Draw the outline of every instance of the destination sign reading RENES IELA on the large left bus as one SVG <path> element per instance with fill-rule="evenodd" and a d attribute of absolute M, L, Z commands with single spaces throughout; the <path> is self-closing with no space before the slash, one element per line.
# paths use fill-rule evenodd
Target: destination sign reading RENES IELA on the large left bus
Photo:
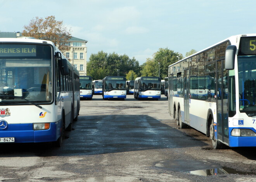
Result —
<path fill-rule="evenodd" d="M 26 44 L 0 44 L 0 56 L 36 56 L 36 46 Z"/>

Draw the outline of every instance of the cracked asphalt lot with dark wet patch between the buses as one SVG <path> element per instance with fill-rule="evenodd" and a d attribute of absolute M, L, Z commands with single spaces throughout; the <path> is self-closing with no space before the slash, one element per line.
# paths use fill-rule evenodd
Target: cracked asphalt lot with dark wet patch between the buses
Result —
<path fill-rule="evenodd" d="M 213 150 L 204 134 L 176 126 L 161 97 L 81 100 L 61 148 L 0 145 L 0 181 L 256 182 L 256 148 Z"/>

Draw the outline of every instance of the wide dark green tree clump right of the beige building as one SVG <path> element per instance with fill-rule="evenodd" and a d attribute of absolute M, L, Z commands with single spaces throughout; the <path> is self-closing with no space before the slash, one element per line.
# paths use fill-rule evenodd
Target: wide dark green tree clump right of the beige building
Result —
<path fill-rule="evenodd" d="M 102 73 L 99 70 L 102 70 Z M 126 76 L 130 70 L 133 70 L 137 74 L 140 71 L 140 66 L 134 57 L 130 59 L 126 54 L 107 54 L 103 51 L 99 51 L 97 54 L 91 54 L 87 63 L 87 73 L 94 80 L 99 80 L 106 76 L 117 76 L 117 70 L 119 70 L 119 76 Z M 100 74 L 97 74 L 97 72 Z"/>

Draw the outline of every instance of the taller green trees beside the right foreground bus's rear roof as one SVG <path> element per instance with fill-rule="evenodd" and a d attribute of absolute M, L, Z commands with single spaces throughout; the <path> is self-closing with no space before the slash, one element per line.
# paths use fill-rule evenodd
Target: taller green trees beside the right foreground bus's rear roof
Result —
<path fill-rule="evenodd" d="M 168 66 L 178 61 L 178 57 L 181 60 L 182 54 L 175 53 L 173 50 L 168 48 L 160 48 L 156 53 L 153 54 L 153 59 L 148 58 L 147 61 L 142 65 L 141 74 L 144 77 L 158 77 L 163 79 L 168 76 Z M 160 71 L 159 71 L 160 70 Z"/>

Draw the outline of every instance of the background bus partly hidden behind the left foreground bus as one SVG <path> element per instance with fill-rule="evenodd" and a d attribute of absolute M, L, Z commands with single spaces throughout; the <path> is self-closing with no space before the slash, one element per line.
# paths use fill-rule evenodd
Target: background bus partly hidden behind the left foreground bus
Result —
<path fill-rule="evenodd" d="M 92 99 L 92 77 L 80 76 L 80 98 Z"/>

